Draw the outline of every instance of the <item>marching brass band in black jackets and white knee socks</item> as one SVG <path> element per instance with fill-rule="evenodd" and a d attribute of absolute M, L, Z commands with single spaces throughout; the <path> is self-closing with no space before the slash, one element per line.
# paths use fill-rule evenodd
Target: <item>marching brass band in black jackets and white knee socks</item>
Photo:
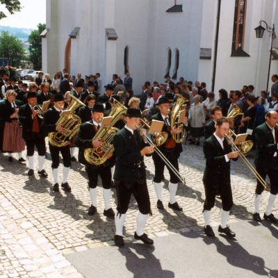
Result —
<path fill-rule="evenodd" d="M 26 84 L 21 84 L 26 88 Z M 23 86 L 24 85 L 24 86 Z M 45 138 L 49 137 L 49 152 L 51 154 L 51 168 L 54 178 L 54 192 L 59 191 L 58 166 L 59 155 L 63 157 L 63 181 L 61 188 L 69 193 L 71 187 L 67 181 L 71 163 L 70 147 L 79 148 L 78 161 L 85 165 L 88 175 L 88 190 L 91 205 L 88 215 L 97 211 L 97 184 L 101 177 L 104 197 L 104 215 L 115 218 L 115 245 L 124 245 L 123 227 L 126 212 L 128 211 L 131 194 L 138 203 L 137 228 L 134 238 L 143 243 L 152 245 L 154 241 L 144 233 L 148 215 L 152 215 L 149 192 L 146 181 L 144 156 L 152 156 L 154 161 L 154 189 L 156 192 L 158 210 L 163 210 L 163 179 L 164 168 L 170 174 L 168 207 L 175 211 L 183 211 L 176 200 L 179 181 L 183 177 L 179 173 L 179 156 L 183 152 L 181 146 L 186 131 L 190 130 L 187 114 L 182 114 L 184 104 L 188 99 L 181 95 L 166 94 L 156 101 L 152 114 L 141 114 L 138 108 L 139 99 L 132 97 L 129 100 L 130 108 L 124 107 L 124 95 L 113 95 L 114 87 L 106 85 L 104 95 L 95 91 L 95 84 L 88 81 L 87 90 L 83 91 L 83 83 L 76 84 L 76 90 L 66 92 L 49 92 L 49 83 L 42 82 L 40 92 L 38 85 L 31 83 L 28 91 L 6 90 L 6 99 L 0 103 L 0 145 L 2 152 L 8 152 L 8 161 L 13 161 L 12 154 L 17 152 L 19 162 L 24 162 L 22 152 L 27 149 L 28 176 L 33 176 L 34 150 L 38 150 L 38 174 L 48 177 L 44 170 L 46 155 Z M 19 99 L 17 99 L 19 95 Z M 168 95 L 168 97 L 167 97 Z M 47 111 L 42 106 L 48 101 Z M 84 103 L 83 103 L 84 101 Z M 234 110 L 236 111 L 236 105 Z M 144 110 L 144 109 L 142 109 Z M 187 113 L 187 112 L 185 112 Z M 111 117 L 109 124 L 103 125 L 106 117 Z M 185 115 L 185 116 L 181 116 Z M 230 115 L 230 114 L 229 114 Z M 211 122 L 204 127 L 204 156 L 206 167 L 204 170 L 204 234 L 213 238 L 215 236 L 210 224 L 211 208 L 215 203 L 215 195 L 219 194 L 222 200 L 222 220 L 218 227 L 220 233 L 228 237 L 236 234 L 227 226 L 229 212 L 233 206 L 230 160 L 237 160 L 243 156 L 241 149 L 233 149 L 234 139 L 228 135 L 233 127 L 234 117 L 222 117 L 220 106 L 211 108 Z M 238 115 L 234 115 L 238 116 Z M 265 123 L 253 131 L 256 139 L 256 173 L 265 182 L 270 178 L 270 197 L 263 218 L 271 222 L 278 219 L 271 213 L 272 206 L 278 193 L 278 113 L 270 111 L 265 115 Z M 148 122 L 148 123 L 147 123 Z M 153 122 L 160 122 L 162 129 L 155 132 L 152 142 L 146 131 Z M 178 124 L 178 125 L 177 125 Z M 191 134 L 194 136 L 194 134 Z M 179 136 L 179 140 L 177 139 Z M 232 133 L 232 136 L 236 136 Z M 195 138 L 195 137 L 193 137 Z M 227 140 L 226 140 L 227 139 Z M 228 140 L 229 139 L 229 140 Z M 187 140 L 187 139 L 186 139 Z M 194 140 L 194 139 L 193 139 Z M 115 165 L 115 172 L 111 168 Z M 117 209 L 111 208 L 111 186 L 115 181 L 117 192 Z M 257 183 L 254 197 L 254 215 L 256 221 L 261 221 L 259 203 L 264 187 Z"/>

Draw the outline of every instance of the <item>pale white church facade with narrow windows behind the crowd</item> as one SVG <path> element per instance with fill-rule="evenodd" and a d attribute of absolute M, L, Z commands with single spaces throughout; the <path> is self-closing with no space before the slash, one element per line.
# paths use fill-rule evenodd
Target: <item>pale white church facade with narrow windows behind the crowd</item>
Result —
<path fill-rule="evenodd" d="M 261 20 L 278 26 L 277 0 L 47 0 L 42 70 L 99 72 L 104 85 L 128 70 L 135 95 L 166 74 L 214 92 L 252 84 L 259 95 L 271 46 L 266 30 L 256 38 Z M 270 77 L 278 72 L 277 38 L 272 47 Z"/>

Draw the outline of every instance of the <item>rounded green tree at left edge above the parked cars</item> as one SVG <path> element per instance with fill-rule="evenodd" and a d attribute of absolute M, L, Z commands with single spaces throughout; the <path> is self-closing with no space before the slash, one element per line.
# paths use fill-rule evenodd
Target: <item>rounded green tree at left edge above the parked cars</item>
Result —
<path fill-rule="evenodd" d="M 0 56 L 8 58 L 8 62 L 13 67 L 19 67 L 24 58 L 24 48 L 22 42 L 7 31 L 0 35 Z"/>

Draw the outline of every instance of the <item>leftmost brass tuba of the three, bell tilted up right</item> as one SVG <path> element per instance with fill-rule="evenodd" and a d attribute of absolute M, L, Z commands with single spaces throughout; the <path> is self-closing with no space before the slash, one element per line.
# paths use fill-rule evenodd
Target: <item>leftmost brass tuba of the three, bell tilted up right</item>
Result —
<path fill-rule="evenodd" d="M 81 125 L 81 118 L 74 115 L 74 111 L 80 106 L 85 106 L 82 101 L 72 95 L 67 110 L 71 112 L 65 116 L 60 116 L 56 122 L 56 126 L 61 125 L 64 129 L 67 129 L 64 133 L 58 131 L 49 133 L 49 143 L 54 147 L 64 147 L 68 145 L 74 134 L 79 130 Z"/>

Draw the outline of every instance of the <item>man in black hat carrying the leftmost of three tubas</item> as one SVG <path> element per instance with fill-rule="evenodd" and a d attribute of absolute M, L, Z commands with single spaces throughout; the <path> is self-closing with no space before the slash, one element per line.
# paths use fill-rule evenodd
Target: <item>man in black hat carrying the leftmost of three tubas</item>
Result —
<path fill-rule="evenodd" d="M 60 117 L 60 113 L 63 111 L 64 106 L 64 96 L 62 94 L 54 95 L 54 106 L 50 109 L 48 109 L 44 113 L 44 118 L 42 120 L 41 129 L 46 131 L 47 133 L 56 132 L 59 133 L 65 133 L 66 129 L 58 124 L 56 125 L 56 122 L 58 121 Z M 63 145 L 62 147 L 51 145 L 49 142 L 49 151 L 51 154 L 52 159 L 52 173 L 54 178 L 54 186 L 53 190 L 54 192 L 59 191 L 59 184 L 58 184 L 58 166 L 59 166 L 59 153 L 61 153 L 63 157 L 63 183 L 62 188 L 70 192 L 72 188 L 70 188 L 69 184 L 67 183 L 67 176 L 70 171 L 70 142 L 67 145 Z"/>

